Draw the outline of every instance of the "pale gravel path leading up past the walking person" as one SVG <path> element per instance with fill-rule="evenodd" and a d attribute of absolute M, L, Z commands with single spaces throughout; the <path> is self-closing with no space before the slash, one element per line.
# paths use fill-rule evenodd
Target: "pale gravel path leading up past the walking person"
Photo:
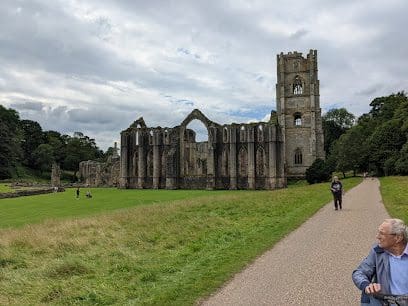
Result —
<path fill-rule="evenodd" d="M 202 305 L 360 305 L 351 273 L 388 217 L 379 181 L 366 179 L 343 210 L 327 204 Z"/>

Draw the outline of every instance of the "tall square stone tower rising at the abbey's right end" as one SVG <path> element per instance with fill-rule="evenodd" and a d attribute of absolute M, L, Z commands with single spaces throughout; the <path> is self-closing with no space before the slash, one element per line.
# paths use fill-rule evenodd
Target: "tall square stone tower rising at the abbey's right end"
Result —
<path fill-rule="evenodd" d="M 324 159 L 317 51 L 277 55 L 276 106 L 285 143 L 287 177 L 304 177 L 316 158 Z"/>

